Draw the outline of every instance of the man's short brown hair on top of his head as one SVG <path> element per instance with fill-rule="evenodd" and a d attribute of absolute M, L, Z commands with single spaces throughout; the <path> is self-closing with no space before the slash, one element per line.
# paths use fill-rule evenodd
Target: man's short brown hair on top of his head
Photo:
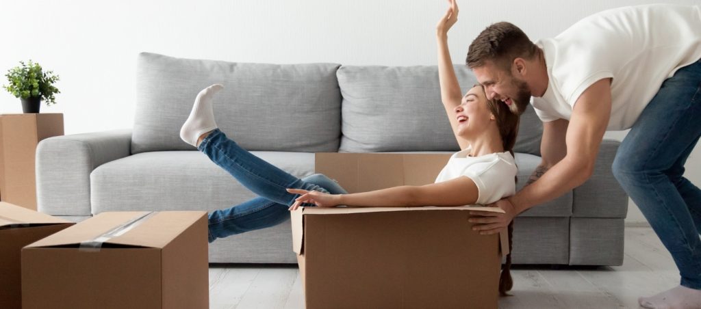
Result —
<path fill-rule="evenodd" d="M 497 67 L 510 71 L 514 59 L 531 59 L 537 50 L 536 44 L 519 27 L 510 22 L 497 22 L 486 27 L 472 41 L 465 62 L 473 69 L 491 61 Z"/>

